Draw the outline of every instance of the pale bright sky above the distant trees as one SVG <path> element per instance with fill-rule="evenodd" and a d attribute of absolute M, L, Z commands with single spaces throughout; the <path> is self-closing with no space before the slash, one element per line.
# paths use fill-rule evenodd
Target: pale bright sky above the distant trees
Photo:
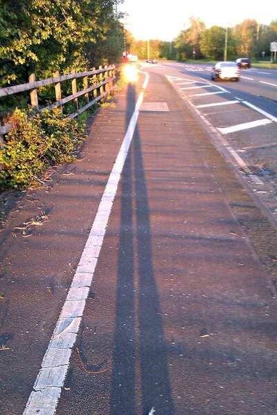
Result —
<path fill-rule="evenodd" d="M 277 19 L 272 0 L 229 0 L 226 6 L 208 0 L 124 0 L 118 11 L 128 14 L 123 23 L 136 40 L 171 41 L 190 26 L 191 16 L 199 17 L 207 28 L 231 27 L 244 19 L 268 25 Z"/>

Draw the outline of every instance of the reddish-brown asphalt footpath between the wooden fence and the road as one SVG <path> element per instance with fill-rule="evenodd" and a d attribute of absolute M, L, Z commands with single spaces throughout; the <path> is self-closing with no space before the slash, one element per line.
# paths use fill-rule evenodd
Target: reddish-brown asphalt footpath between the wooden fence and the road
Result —
<path fill-rule="evenodd" d="M 91 117 L 73 163 L 1 194 L 0 414 L 277 413 L 275 290 L 253 243 L 270 225 L 166 77 L 145 79 Z M 95 269 L 78 274 L 126 136 Z M 35 387 L 57 407 L 28 406 L 86 273 L 65 378 Z"/>

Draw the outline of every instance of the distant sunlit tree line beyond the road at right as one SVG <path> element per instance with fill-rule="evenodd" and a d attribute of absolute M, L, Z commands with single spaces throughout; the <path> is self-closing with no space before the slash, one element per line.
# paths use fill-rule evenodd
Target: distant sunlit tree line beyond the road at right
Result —
<path fill-rule="evenodd" d="M 181 30 L 172 42 L 160 40 L 133 41 L 132 50 L 141 59 L 211 59 L 229 60 L 250 57 L 253 60 L 271 59 L 270 44 L 277 41 L 277 19 L 262 25 L 254 19 L 245 19 L 241 24 L 224 28 L 206 28 L 204 21 L 190 17 L 189 26 Z"/>

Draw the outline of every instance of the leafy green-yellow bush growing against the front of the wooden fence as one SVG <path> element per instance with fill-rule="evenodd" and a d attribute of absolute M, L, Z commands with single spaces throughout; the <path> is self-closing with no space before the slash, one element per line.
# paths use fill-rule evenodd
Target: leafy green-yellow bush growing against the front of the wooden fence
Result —
<path fill-rule="evenodd" d="M 66 118 L 60 108 L 26 113 L 16 109 L 9 122 L 14 128 L 0 150 L 0 189 L 28 188 L 39 183 L 47 167 L 69 163 L 85 138 L 84 126 Z"/>

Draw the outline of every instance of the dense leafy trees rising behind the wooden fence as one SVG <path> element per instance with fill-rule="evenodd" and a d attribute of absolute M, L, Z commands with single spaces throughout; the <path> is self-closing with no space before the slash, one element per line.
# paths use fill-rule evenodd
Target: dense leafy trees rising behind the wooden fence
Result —
<path fill-rule="evenodd" d="M 121 0 L 0 0 L 0 87 L 116 63 Z"/>

